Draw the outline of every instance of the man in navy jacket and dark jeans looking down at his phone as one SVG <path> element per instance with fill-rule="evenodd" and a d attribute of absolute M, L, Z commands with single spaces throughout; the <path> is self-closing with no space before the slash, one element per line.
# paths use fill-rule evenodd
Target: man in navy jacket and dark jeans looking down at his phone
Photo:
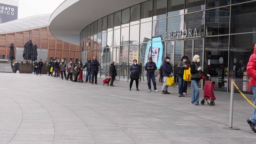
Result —
<path fill-rule="evenodd" d="M 148 80 L 148 92 L 151 91 L 151 79 L 154 86 L 154 91 L 158 92 L 156 89 L 156 78 L 155 70 L 157 69 L 156 63 L 152 61 L 152 57 L 148 58 L 148 62 L 145 65 L 145 70 L 147 71 L 147 80 Z"/>

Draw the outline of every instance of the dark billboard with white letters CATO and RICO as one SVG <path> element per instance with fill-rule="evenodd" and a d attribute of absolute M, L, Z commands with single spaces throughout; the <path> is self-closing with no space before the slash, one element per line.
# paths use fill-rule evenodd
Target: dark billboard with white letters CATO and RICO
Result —
<path fill-rule="evenodd" d="M 16 20 L 18 18 L 18 7 L 0 3 L 0 23 Z"/>

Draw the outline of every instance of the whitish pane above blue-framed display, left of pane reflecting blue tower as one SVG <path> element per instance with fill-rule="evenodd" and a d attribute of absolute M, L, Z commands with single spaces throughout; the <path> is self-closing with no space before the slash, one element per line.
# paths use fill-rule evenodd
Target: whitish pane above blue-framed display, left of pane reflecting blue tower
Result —
<path fill-rule="evenodd" d="M 148 42 L 151 40 L 152 22 L 140 24 L 140 42 Z"/>

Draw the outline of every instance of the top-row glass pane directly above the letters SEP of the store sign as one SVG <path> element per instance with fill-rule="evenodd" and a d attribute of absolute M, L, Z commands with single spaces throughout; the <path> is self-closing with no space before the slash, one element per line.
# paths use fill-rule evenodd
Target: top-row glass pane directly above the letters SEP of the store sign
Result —
<path fill-rule="evenodd" d="M 167 16 L 184 14 L 185 0 L 168 0 Z"/>

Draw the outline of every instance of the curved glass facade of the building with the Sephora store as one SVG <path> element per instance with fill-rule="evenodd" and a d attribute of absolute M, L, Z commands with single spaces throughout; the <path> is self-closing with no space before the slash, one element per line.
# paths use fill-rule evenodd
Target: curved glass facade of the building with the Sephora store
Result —
<path fill-rule="evenodd" d="M 252 94 L 246 65 L 256 42 L 255 15 L 256 1 L 250 0 L 148 0 L 85 26 L 80 53 L 99 59 L 102 78 L 115 61 L 116 79 L 123 81 L 130 79 L 133 59 L 146 81 L 148 57 L 160 69 L 170 56 L 175 69 L 183 55 L 192 61 L 198 54 L 203 71 L 216 82 L 215 91 L 229 92 L 235 78 L 244 93 Z M 199 87 L 203 89 L 203 81 Z"/>

